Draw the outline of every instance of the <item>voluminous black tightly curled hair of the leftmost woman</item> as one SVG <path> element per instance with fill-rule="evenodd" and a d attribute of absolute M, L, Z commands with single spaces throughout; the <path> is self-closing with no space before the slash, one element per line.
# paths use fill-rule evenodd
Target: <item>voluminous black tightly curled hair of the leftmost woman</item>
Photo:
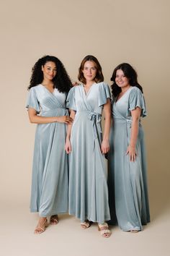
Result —
<path fill-rule="evenodd" d="M 57 88 L 61 93 L 68 93 L 68 91 L 72 87 L 71 79 L 68 76 L 66 69 L 63 66 L 63 63 L 55 56 L 49 55 L 43 56 L 42 58 L 38 59 L 34 67 L 32 67 L 32 76 L 30 78 L 30 85 L 28 87 L 28 90 L 36 85 L 39 85 L 42 82 L 42 66 L 44 66 L 45 63 L 47 63 L 48 61 L 54 62 L 57 67 L 57 74 L 53 78 L 53 87 Z"/>

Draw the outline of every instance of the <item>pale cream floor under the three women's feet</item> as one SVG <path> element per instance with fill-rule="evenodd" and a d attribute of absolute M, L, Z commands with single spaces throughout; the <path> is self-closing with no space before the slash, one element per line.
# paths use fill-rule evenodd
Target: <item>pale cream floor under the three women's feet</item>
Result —
<path fill-rule="evenodd" d="M 1 256 L 169 256 L 170 207 L 165 202 L 151 205 L 152 221 L 138 234 L 112 227 L 112 236 L 104 239 L 97 225 L 83 230 L 73 216 L 59 216 L 57 226 L 48 226 L 34 235 L 37 214 L 29 213 L 27 202 L 12 202 L 1 210 Z M 162 209 L 162 210 L 161 210 Z"/>

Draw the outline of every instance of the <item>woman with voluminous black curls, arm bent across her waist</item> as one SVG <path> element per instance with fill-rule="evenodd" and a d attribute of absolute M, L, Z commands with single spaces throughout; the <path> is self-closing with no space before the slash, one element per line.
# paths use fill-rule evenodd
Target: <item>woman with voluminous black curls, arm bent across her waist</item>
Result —
<path fill-rule="evenodd" d="M 37 124 L 32 166 L 30 210 L 39 212 L 35 234 L 50 223 L 58 223 L 58 213 L 68 212 L 68 158 L 64 151 L 66 124 L 72 119 L 66 110 L 71 80 L 61 61 L 44 56 L 32 68 L 27 109 L 30 122 Z"/>

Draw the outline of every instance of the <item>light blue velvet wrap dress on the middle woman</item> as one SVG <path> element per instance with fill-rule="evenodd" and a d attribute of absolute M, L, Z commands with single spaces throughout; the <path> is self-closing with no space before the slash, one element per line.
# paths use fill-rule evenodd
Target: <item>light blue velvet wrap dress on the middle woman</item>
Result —
<path fill-rule="evenodd" d="M 94 83 L 88 93 L 84 85 L 68 93 L 67 106 L 76 111 L 71 129 L 68 212 L 81 222 L 110 219 L 107 168 L 100 148 L 102 108 L 107 98 L 110 92 L 104 82 Z"/>

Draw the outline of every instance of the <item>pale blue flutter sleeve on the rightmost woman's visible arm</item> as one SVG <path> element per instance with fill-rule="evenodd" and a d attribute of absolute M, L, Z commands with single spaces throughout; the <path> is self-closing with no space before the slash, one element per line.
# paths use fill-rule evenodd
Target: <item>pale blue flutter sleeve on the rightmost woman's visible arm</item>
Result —
<path fill-rule="evenodd" d="M 128 116 L 131 116 L 131 112 L 135 108 L 141 108 L 141 115 L 142 117 L 146 116 L 146 102 L 141 90 L 137 87 L 134 87 L 130 91 L 129 101 L 128 101 Z"/>

